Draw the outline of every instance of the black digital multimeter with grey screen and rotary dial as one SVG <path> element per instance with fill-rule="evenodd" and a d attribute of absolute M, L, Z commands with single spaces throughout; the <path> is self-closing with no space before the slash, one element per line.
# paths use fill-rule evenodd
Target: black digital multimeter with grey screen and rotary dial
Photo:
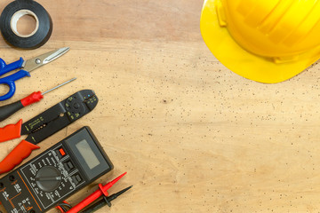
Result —
<path fill-rule="evenodd" d="M 112 169 L 84 127 L 1 178 L 0 201 L 8 213 L 45 212 Z"/>

